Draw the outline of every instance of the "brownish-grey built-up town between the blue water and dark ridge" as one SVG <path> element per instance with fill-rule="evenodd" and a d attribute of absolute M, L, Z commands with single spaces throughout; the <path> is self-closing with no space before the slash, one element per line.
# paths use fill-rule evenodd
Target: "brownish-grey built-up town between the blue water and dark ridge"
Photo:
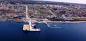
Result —
<path fill-rule="evenodd" d="M 55 4 L 39 1 L 34 4 L 21 4 L 18 2 L 2 1 L 0 3 L 0 21 L 13 20 L 17 17 L 25 17 L 25 5 L 28 6 L 28 16 L 38 19 L 49 20 L 86 20 L 86 5 L 76 3 L 59 3 Z"/>

